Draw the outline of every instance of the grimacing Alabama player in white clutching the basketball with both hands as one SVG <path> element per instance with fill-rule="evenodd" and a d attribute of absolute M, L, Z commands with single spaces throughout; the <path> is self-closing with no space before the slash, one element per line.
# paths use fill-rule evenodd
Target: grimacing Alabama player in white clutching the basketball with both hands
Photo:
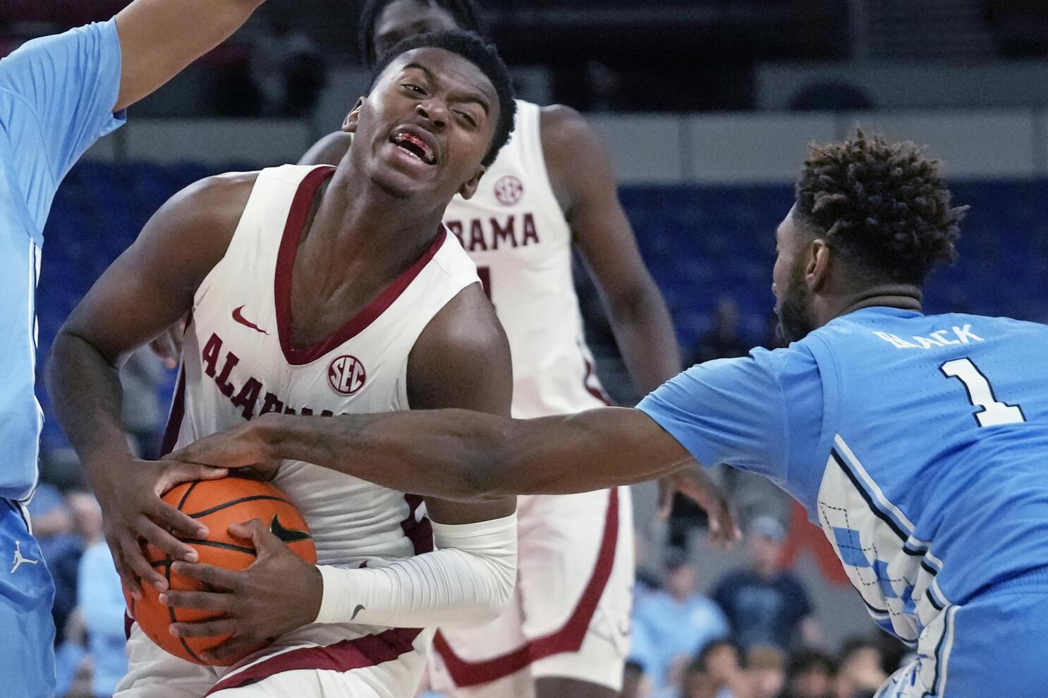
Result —
<path fill-rule="evenodd" d="M 505 334 L 440 217 L 454 194 L 476 191 L 512 117 L 509 75 L 493 46 L 462 31 L 415 37 L 376 68 L 347 118 L 358 145 L 337 169 L 198 182 L 91 289 L 56 342 L 50 386 L 100 500 L 131 537 L 114 549 L 129 584 L 130 570 L 166 590 L 135 537 L 155 526 L 137 520 L 137 500 L 155 498 L 170 463 L 128 450 L 115 366 L 190 310 L 166 450 L 269 412 L 509 415 Z M 265 606 L 252 611 L 296 620 L 224 675 L 165 653 L 134 627 L 117 695 L 409 698 L 432 634 L 421 629 L 494 618 L 510 596 L 512 497 L 427 499 L 423 512 L 419 498 L 305 462 L 285 463 L 274 483 L 308 521 L 321 566 L 299 561 L 274 575 Z M 287 552 L 265 528 L 240 532 L 260 550 L 256 571 Z M 236 583 L 215 572 L 208 596 L 236 605 Z M 163 603 L 181 606 L 178 592 L 167 594 Z M 309 618 L 298 621 L 300 612 Z M 228 617 L 213 623 L 205 634 L 234 635 L 205 659 L 266 639 Z"/>

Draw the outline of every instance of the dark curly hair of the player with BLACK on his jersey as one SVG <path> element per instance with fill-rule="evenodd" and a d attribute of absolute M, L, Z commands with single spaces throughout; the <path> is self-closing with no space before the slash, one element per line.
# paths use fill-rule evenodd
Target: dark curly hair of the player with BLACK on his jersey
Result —
<path fill-rule="evenodd" d="M 858 130 L 810 147 L 796 183 L 796 213 L 831 249 L 877 278 L 920 285 L 955 243 L 967 206 L 952 206 L 939 161 L 911 141 Z"/>

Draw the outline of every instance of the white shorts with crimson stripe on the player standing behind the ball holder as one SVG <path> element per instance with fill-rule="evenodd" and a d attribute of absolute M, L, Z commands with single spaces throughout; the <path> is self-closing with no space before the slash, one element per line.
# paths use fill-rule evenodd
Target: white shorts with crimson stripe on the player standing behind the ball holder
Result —
<path fill-rule="evenodd" d="M 534 679 L 619 691 L 630 646 L 629 487 L 520 497 L 514 598 L 496 620 L 438 631 L 431 680 L 462 698 L 528 698 Z"/>

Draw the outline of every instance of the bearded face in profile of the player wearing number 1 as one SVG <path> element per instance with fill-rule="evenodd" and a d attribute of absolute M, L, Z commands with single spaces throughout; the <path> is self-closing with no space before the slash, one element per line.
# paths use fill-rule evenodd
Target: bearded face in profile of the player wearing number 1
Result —
<path fill-rule="evenodd" d="M 804 278 L 806 242 L 807 235 L 798 226 L 791 209 L 776 231 L 776 267 L 771 274 L 779 334 L 787 343 L 802 340 L 815 329 L 811 291 Z"/>

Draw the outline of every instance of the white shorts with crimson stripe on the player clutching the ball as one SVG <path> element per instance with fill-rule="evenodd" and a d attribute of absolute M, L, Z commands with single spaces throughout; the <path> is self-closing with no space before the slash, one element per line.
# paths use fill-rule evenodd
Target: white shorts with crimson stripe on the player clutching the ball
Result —
<path fill-rule="evenodd" d="M 306 626 L 234 667 L 201 667 L 168 654 L 138 624 L 128 674 L 114 698 L 412 698 L 431 631 Z"/>

